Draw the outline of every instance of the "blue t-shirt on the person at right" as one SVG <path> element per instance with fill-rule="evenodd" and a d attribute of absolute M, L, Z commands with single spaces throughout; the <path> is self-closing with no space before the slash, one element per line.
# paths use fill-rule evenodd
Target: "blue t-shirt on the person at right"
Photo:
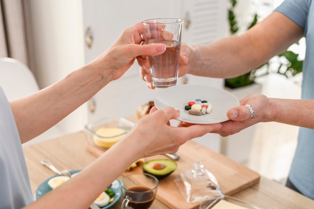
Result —
<path fill-rule="evenodd" d="M 311 0 L 285 0 L 277 9 L 304 28 L 302 99 L 314 99 L 314 6 Z M 289 179 L 305 196 L 314 199 L 314 130 L 300 128 Z"/>

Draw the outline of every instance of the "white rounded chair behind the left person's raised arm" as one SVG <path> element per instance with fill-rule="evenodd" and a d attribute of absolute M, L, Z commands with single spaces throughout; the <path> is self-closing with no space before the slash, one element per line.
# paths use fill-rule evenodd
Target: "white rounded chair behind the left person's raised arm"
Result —
<path fill-rule="evenodd" d="M 9 57 L 0 58 L 0 86 L 9 100 L 21 98 L 40 89 L 32 71 L 24 63 Z M 62 134 L 58 127 L 54 126 L 23 145 L 59 137 Z"/>

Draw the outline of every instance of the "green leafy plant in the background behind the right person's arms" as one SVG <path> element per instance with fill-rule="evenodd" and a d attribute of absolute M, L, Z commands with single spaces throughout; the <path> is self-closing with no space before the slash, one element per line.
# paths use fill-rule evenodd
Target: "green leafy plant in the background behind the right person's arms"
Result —
<path fill-rule="evenodd" d="M 230 7 L 228 9 L 229 12 L 229 27 L 230 27 L 230 34 L 235 35 L 239 31 L 238 22 L 235 15 L 235 8 L 237 5 L 237 0 L 230 0 Z M 253 20 L 247 26 L 247 30 L 253 27 L 258 21 L 258 15 L 255 13 Z M 243 75 L 233 77 L 233 78 L 226 78 L 225 79 L 225 86 L 229 88 L 238 88 L 246 85 L 250 85 L 254 83 L 257 77 L 269 74 L 271 72 L 276 72 L 278 74 L 284 75 L 287 78 L 294 76 L 300 72 L 302 72 L 302 64 L 303 60 L 298 59 L 299 54 L 296 54 L 292 51 L 285 51 L 274 58 L 275 64 L 278 65 L 276 70 L 273 70 L 273 58 L 270 59 L 268 62 L 264 63 L 263 65 L 259 66 L 252 71 L 245 73 Z M 263 73 L 257 73 L 260 69 L 264 69 Z"/>

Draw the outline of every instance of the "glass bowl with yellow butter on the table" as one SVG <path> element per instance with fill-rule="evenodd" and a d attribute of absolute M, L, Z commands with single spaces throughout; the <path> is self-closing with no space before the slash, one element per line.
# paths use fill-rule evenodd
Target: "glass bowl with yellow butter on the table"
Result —
<path fill-rule="evenodd" d="M 84 130 L 88 142 L 109 149 L 117 141 L 122 139 L 132 128 L 134 123 L 121 117 L 107 117 L 95 123 L 88 123 Z"/>

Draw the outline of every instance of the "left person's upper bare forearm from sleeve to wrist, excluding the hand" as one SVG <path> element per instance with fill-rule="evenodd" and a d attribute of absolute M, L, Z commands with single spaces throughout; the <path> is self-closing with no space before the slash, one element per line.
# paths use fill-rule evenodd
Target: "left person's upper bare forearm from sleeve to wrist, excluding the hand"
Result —
<path fill-rule="evenodd" d="M 45 132 L 86 102 L 110 81 L 105 72 L 87 65 L 47 88 L 11 101 L 21 141 Z"/>

